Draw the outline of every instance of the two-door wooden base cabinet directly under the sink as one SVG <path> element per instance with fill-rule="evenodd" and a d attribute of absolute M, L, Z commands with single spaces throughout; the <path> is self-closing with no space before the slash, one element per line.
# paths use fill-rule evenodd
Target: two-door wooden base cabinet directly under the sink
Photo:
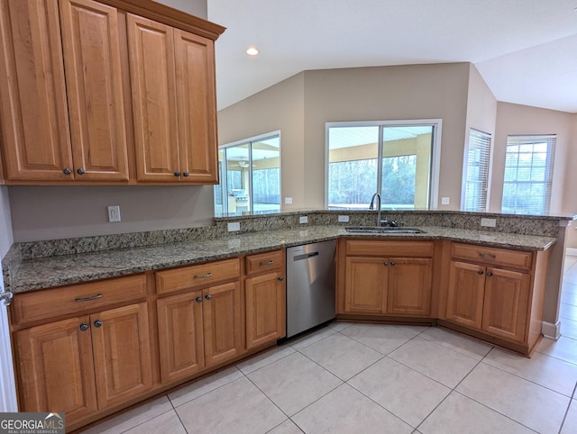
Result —
<path fill-rule="evenodd" d="M 433 241 L 344 240 L 341 246 L 338 313 L 431 314 Z"/>

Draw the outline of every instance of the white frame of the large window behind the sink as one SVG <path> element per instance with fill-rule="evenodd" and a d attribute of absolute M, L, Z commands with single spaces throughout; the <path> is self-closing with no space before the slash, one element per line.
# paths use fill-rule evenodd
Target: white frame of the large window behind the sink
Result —
<path fill-rule="evenodd" d="M 431 173 L 429 185 L 428 210 L 436 210 L 439 199 L 439 175 L 441 170 L 441 138 L 443 137 L 442 119 L 403 119 L 392 121 L 350 121 L 350 122 L 325 122 L 325 210 L 328 209 L 328 178 L 329 178 L 329 129 L 333 127 L 379 127 L 380 131 L 387 127 L 403 126 L 432 126 L 433 149 L 431 152 Z M 380 133 L 380 136 L 382 134 Z M 379 140 L 381 140 L 379 138 Z M 379 143 L 381 143 L 379 141 Z M 379 173 L 382 165 L 382 146 L 379 146 Z M 380 183 L 380 181 L 378 181 Z M 378 184 L 379 185 L 379 184 Z"/>

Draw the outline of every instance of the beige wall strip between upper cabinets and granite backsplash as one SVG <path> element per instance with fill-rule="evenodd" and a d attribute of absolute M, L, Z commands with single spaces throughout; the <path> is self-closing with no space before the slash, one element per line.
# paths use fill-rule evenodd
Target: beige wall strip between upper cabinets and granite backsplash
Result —
<path fill-rule="evenodd" d="M 213 186 L 11 186 L 14 241 L 54 240 L 212 224 Z M 108 222 L 120 205 L 122 222 Z"/>

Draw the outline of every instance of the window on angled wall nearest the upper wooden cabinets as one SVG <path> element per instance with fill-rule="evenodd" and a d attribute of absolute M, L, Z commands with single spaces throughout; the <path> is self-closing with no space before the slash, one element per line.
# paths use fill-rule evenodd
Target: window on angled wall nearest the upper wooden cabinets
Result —
<path fill-rule="evenodd" d="M 221 147 L 218 168 L 215 215 L 280 211 L 279 132 Z"/>

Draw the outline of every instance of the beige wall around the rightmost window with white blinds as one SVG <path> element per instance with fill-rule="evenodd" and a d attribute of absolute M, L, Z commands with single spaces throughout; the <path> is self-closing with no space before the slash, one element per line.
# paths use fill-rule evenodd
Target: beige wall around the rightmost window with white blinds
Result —
<path fill-rule="evenodd" d="M 553 192 L 550 213 L 577 213 L 576 185 L 577 143 L 576 114 L 557 112 L 527 105 L 498 103 L 495 148 L 493 152 L 490 211 L 500 212 L 503 197 L 505 153 L 509 134 L 557 134 Z M 566 176 L 565 176 L 566 175 Z"/>

